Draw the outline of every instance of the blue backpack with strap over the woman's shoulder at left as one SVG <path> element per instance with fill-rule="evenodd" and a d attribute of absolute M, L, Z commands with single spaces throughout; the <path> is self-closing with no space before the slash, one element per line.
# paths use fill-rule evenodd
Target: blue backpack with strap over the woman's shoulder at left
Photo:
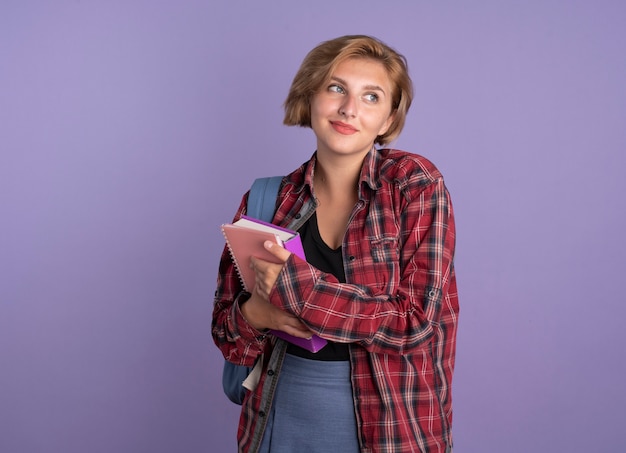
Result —
<path fill-rule="evenodd" d="M 276 197 L 282 181 L 282 176 L 270 176 L 255 179 L 248 195 L 247 215 L 264 222 L 271 222 L 276 209 Z M 248 377 L 253 367 L 235 365 L 224 361 L 222 370 L 222 387 L 224 393 L 235 404 L 241 405 L 246 396 L 243 381 Z"/>

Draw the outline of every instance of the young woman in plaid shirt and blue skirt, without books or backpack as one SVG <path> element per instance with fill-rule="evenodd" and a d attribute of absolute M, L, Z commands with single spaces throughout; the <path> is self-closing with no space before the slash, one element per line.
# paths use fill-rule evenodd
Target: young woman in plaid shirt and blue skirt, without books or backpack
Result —
<path fill-rule="evenodd" d="M 450 196 L 425 158 L 378 149 L 411 105 L 404 57 L 368 36 L 324 42 L 304 59 L 285 124 L 317 149 L 283 179 L 273 223 L 300 232 L 307 260 L 268 247 L 242 291 L 226 250 L 213 337 L 252 366 L 240 452 L 450 452 L 458 298 Z M 245 214 L 247 194 L 235 216 Z M 267 333 L 316 334 L 310 353 Z"/>

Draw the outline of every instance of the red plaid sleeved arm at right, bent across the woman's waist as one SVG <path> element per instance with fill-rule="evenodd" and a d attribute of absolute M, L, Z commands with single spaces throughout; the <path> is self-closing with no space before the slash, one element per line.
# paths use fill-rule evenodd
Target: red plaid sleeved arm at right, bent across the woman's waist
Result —
<path fill-rule="evenodd" d="M 397 282 L 381 285 L 376 279 L 382 273 L 372 265 L 354 276 L 358 283 L 341 284 L 292 256 L 270 302 L 323 338 L 358 342 L 372 352 L 405 354 L 426 344 L 440 323 L 453 275 L 454 217 L 443 180 L 412 196 L 397 222 Z M 363 253 L 371 253 L 368 247 L 363 244 Z"/>

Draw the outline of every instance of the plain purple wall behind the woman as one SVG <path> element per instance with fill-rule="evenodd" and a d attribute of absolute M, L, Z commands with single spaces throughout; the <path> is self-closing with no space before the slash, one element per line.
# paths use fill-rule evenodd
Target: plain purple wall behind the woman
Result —
<path fill-rule="evenodd" d="M 442 170 L 456 451 L 626 451 L 626 3 L 0 5 L 0 451 L 229 452 L 222 237 L 314 149 L 281 104 L 346 33 L 403 52 Z"/>

